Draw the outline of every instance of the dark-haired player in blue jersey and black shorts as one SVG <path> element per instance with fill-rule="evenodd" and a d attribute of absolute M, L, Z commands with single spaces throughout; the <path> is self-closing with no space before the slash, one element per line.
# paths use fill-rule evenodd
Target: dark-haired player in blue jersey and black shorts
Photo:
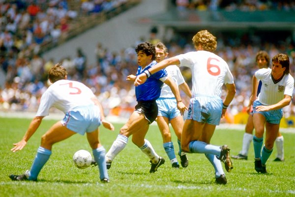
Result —
<path fill-rule="evenodd" d="M 158 167 L 165 163 L 165 160 L 158 156 L 150 142 L 145 139 L 148 132 L 149 124 L 157 117 L 158 106 L 156 99 L 161 94 L 163 83 L 167 84 L 175 98 L 177 99 L 177 108 L 181 114 L 187 109 L 182 103 L 177 85 L 168 77 L 165 69 L 159 70 L 154 74 L 150 74 L 148 69 L 156 65 L 155 61 L 155 46 L 149 42 L 143 42 L 135 48 L 137 53 L 138 69 L 136 75 L 145 73 L 149 76 L 147 83 L 137 86 L 135 94 L 138 104 L 135 106 L 135 111 L 131 114 L 127 123 L 120 129 L 117 139 L 112 144 L 110 150 L 106 154 L 107 168 L 111 164 L 120 151 L 122 151 L 127 142 L 128 137 L 132 135 L 132 142 L 137 145 L 143 153 L 150 159 L 151 167 L 149 172 L 157 171 Z M 134 81 L 135 75 L 127 76 L 127 80 Z"/>

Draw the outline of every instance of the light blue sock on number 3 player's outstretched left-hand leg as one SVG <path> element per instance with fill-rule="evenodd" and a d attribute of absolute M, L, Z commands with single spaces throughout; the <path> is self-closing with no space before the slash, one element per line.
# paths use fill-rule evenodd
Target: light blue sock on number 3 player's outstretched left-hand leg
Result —
<path fill-rule="evenodd" d="M 37 180 L 38 174 L 42 167 L 49 160 L 51 151 L 39 146 L 35 160 L 30 168 L 29 180 Z"/>

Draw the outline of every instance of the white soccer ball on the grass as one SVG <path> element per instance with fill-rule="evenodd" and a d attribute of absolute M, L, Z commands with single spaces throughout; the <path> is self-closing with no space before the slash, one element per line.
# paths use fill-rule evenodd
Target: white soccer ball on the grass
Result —
<path fill-rule="evenodd" d="M 74 154 L 73 162 L 79 169 L 85 169 L 92 162 L 91 154 L 86 150 L 79 150 Z"/>

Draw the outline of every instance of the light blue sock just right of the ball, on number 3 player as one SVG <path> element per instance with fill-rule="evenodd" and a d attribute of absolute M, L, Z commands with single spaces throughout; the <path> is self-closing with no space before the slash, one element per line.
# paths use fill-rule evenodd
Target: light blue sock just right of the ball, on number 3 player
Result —
<path fill-rule="evenodd" d="M 106 165 L 106 158 L 105 158 L 106 150 L 104 149 L 104 147 L 101 146 L 97 149 L 92 149 L 92 154 L 93 154 L 95 162 L 98 164 L 100 180 L 104 178 L 109 179 L 107 165 Z"/>

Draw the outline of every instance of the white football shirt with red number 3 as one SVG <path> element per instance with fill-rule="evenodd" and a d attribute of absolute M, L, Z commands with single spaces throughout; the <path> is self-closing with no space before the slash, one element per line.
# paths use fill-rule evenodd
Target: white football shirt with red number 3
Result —
<path fill-rule="evenodd" d="M 56 107 L 65 114 L 75 107 L 94 104 L 92 97 L 95 97 L 94 94 L 83 83 L 56 81 L 42 95 L 36 116 L 47 116 L 51 107 Z"/>

